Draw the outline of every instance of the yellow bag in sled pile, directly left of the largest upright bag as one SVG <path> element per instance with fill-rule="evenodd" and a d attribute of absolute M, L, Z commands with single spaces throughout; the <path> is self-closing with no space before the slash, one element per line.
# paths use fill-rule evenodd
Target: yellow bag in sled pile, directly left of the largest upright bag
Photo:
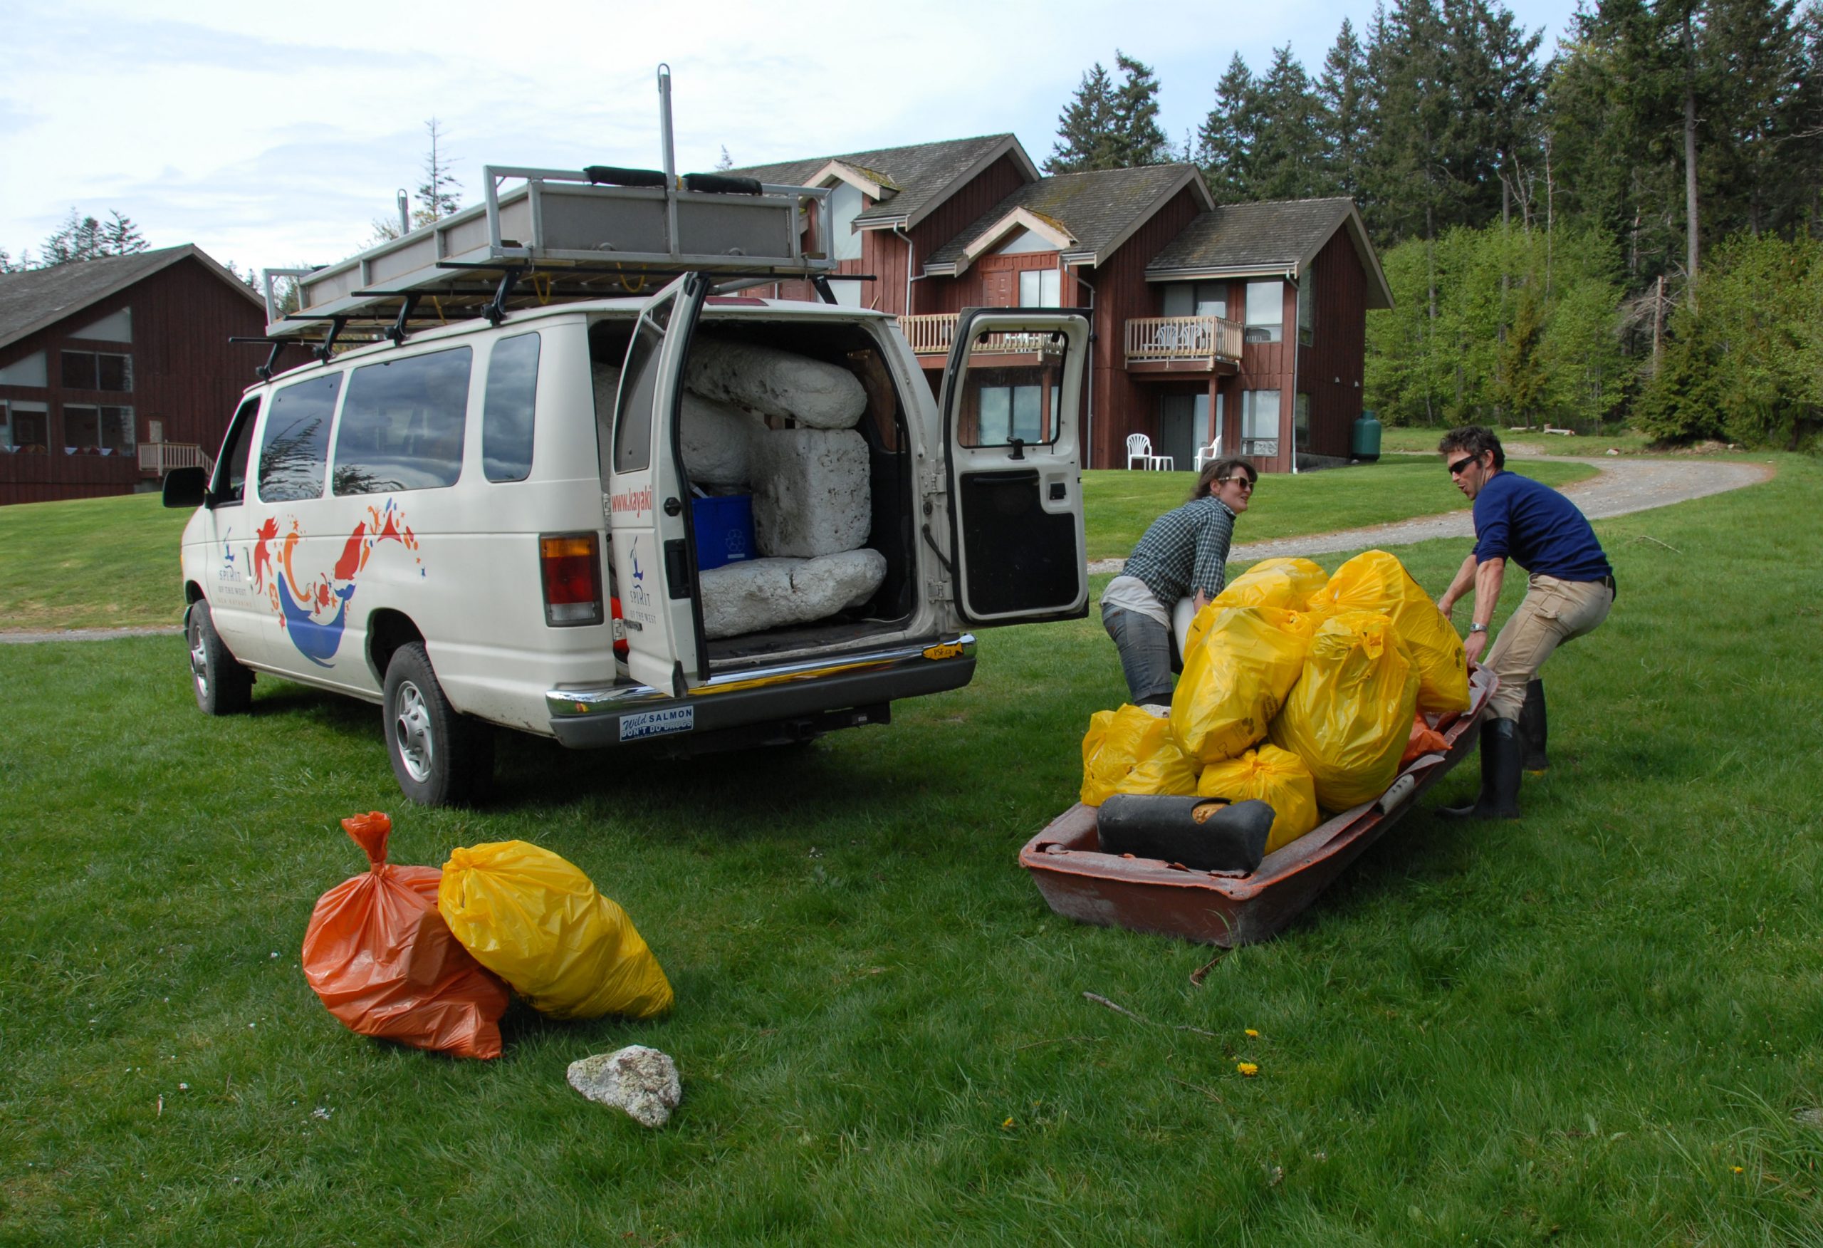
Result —
<path fill-rule="evenodd" d="M 1309 640 L 1283 628 L 1274 608 L 1210 608 L 1203 644 L 1183 664 L 1170 695 L 1170 730 L 1207 766 L 1232 759 L 1265 735 L 1303 671 Z"/>

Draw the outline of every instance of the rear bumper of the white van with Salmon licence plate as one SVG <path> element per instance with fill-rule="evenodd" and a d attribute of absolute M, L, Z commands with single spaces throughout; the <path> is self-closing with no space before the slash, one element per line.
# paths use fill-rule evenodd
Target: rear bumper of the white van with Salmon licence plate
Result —
<path fill-rule="evenodd" d="M 798 719 L 957 690 L 975 675 L 970 633 L 711 677 L 684 697 L 649 684 L 549 690 L 551 733 L 572 750 Z"/>

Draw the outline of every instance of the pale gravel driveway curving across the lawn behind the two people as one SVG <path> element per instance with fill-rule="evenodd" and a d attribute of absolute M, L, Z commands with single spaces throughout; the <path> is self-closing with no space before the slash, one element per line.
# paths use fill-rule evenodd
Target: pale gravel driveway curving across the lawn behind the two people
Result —
<path fill-rule="evenodd" d="M 1648 511 L 1666 507 L 1675 502 L 1690 502 L 1723 491 L 1757 485 L 1772 478 L 1772 469 L 1761 463 L 1735 463 L 1728 460 L 1632 460 L 1632 458 L 1581 458 L 1560 456 L 1571 463 L 1590 463 L 1601 469 L 1599 476 L 1564 485 L 1562 493 L 1582 509 L 1590 520 L 1624 516 L 1630 511 Z M 1245 522 L 1243 522 L 1245 524 Z M 1416 520 L 1398 520 L 1395 524 L 1376 524 L 1367 529 L 1344 529 L 1340 533 L 1305 533 L 1294 538 L 1272 542 L 1247 542 L 1229 551 L 1232 562 L 1247 564 L 1260 558 L 1280 558 L 1287 555 L 1325 555 L 1333 551 L 1358 551 L 1384 546 L 1411 546 L 1440 536 L 1475 536 L 1473 513 L 1449 511 L 1440 516 L 1420 516 Z M 1088 566 L 1092 573 L 1117 573 L 1125 560 L 1097 558 Z"/>

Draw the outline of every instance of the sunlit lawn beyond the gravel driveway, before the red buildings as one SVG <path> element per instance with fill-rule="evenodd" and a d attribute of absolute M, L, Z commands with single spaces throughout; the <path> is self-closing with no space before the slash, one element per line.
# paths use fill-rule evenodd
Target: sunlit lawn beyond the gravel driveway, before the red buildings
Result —
<path fill-rule="evenodd" d="M 1513 463 L 1551 485 L 1591 476 L 1582 463 Z M 1145 527 L 1183 502 L 1194 473 L 1083 473 L 1088 558 L 1128 555 Z M 1236 535 L 1260 542 L 1462 507 L 1435 465 L 1384 463 L 1267 476 Z M 177 626 L 179 538 L 188 511 L 157 494 L 0 507 L 0 631 Z"/>

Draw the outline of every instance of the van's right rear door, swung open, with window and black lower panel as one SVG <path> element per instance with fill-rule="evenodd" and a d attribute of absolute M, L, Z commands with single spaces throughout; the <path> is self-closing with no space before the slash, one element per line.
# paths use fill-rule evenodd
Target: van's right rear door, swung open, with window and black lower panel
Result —
<path fill-rule="evenodd" d="M 950 566 L 964 622 L 1088 613 L 1079 312 L 964 308 L 942 374 Z"/>

